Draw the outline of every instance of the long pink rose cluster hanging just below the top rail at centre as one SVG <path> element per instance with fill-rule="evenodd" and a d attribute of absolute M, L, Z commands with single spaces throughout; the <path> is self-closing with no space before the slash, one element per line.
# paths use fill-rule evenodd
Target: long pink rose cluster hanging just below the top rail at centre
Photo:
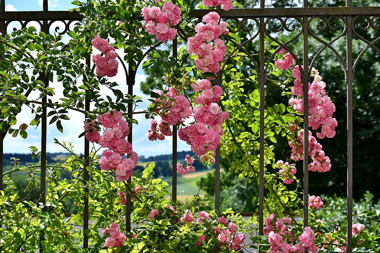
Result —
<path fill-rule="evenodd" d="M 227 23 L 220 21 L 216 12 L 206 14 L 202 21 L 206 24 L 198 23 L 195 26 L 196 35 L 188 39 L 188 53 L 198 56 L 195 64 L 202 73 L 216 74 L 226 55 L 227 46 L 219 37 L 229 33 Z"/>

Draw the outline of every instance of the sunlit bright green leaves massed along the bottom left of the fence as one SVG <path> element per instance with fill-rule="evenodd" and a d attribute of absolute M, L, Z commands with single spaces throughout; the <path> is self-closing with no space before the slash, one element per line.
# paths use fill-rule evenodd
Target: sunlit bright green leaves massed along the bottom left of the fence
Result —
<path fill-rule="evenodd" d="M 87 169 L 92 180 L 86 185 L 82 180 L 84 160 L 73 153 L 70 144 L 66 145 L 58 141 L 57 144 L 65 147 L 72 155 L 64 163 L 56 164 L 49 169 L 45 205 L 39 203 L 39 200 L 30 201 L 30 194 L 21 198 L 14 193 L 16 190 L 14 182 L 5 181 L 5 189 L 0 194 L 0 205 L 3 208 L 0 236 L 1 248 L 6 252 L 16 252 L 20 249 L 26 252 L 38 250 L 39 232 L 42 231 L 46 237 L 43 244 L 47 252 L 87 252 L 81 248 L 83 230 L 77 229 L 83 224 L 83 216 L 80 213 L 83 213 L 84 208 L 85 187 L 89 189 L 89 220 L 93 221 L 88 231 L 91 240 L 90 252 L 99 252 L 104 244 L 98 228 L 106 228 L 112 222 L 119 223 L 120 230 L 127 235 L 125 246 L 121 249 L 113 249 L 113 252 L 118 252 L 118 250 L 121 252 L 177 252 L 178 250 L 209 252 L 208 249 L 219 247 L 219 241 L 212 239 L 202 247 L 194 247 L 198 237 L 194 236 L 193 231 L 197 231 L 197 235 L 213 238 L 213 227 L 218 226 L 218 221 L 215 220 L 223 214 L 234 221 L 239 230 L 243 229 L 242 231 L 246 233 L 250 231 L 241 216 L 234 215 L 231 210 L 223 213 L 212 211 L 207 206 L 208 201 L 199 195 L 194 195 L 188 207 L 181 203 L 167 201 L 165 194 L 168 194 L 168 183 L 159 178 L 153 178 L 154 164 L 152 163 L 143 170 L 142 178 L 133 176 L 131 183 L 117 182 L 113 173 L 96 168 L 98 157 L 91 154 L 90 166 Z M 24 167 L 23 170 L 31 168 L 33 166 Z M 70 172 L 70 180 L 60 179 L 62 169 Z M 31 177 L 28 177 L 27 181 L 31 182 Z M 132 189 L 138 185 L 141 186 L 141 191 L 136 193 Z M 27 186 L 26 189 L 29 187 Z M 31 192 L 33 191 L 35 192 L 36 189 L 32 188 Z M 121 199 L 116 197 L 119 191 L 127 193 L 133 200 L 131 220 L 138 226 L 132 232 L 125 231 L 126 207 L 120 204 Z M 66 219 L 63 202 L 68 199 L 78 206 L 78 213 L 71 214 Z M 168 205 L 175 208 L 173 215 L 167 208 Z M 158 209 L 159 215 L 154 220 L 149 220 L 147 215 L 152 209 Z M 213 221 L 205 221 L 203 224 L 194 222 L 191 225 L 178 222 L 178 219 L 188 210 L 193 213 L 208 211 Z M 133 233 L 138 236 L 133 238 Z"/>

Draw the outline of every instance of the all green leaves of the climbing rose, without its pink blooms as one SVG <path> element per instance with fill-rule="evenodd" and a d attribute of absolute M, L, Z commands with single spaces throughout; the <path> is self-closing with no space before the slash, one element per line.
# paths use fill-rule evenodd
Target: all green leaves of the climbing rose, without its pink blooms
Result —
<path fill-rule="evenodd" d="M 179 31 L 178 43 L 181 45 L 195 33 L 193 27 L 197 20 L 190 19 L 188 16 L 190 10 L 194 8 L 194 2 L 185 0 L 178 3 L 181 5 L 183 13 L 183 19 L 177 27 Z M 151 36 L 142 32 L 143 23 L 140 18 L 142 7 L 157 4 L 156 2 L 94 0 L 74 1 L 74 4 L 78 5 L 78 10 L 84 15 L 84 18 L 75 25 L 72 31 L 68 32 L 71 37 L 68 44 L 61 42 L 59 35 L 37 33 L 33 28 L 24 28 L 0 37 L 0 106 L 2 108 L 0 130 L 2 133 L 8 132 L 13 137 L 18 134 L 23 138 L 27 137 L 28 125 L 26 123 L 20 124 L 16 120 L 22 105 L 31 109 L 34 116 L 32 122 L 29 123 L 31 126 L 41 124 L 44 113 L 42 108 L 46 106 L 49 124 L 55 124 L 61 132 L 64 130 L 61 122 L 62 120 L 69 120 L 67 116 L 69 110 L 79 111 L 93 120 L 97 114 L 118 110 L 123 112 L 124 116 L 128 116 L 125 117 L 128 123 L 138 123 L 132 119 L 131 114 L 127 114 L 126 104 L 129 109 L 131 107 L 136 108 L 142 100 L 137 96 L 123 94 L 118 89 L 119 84 L 97 77 L 94 74 L 94 68 L 90 69 L 90 66 L 85 64 L 85 59 L 91 55 L 91 41 L 95 35 L 100 35 L 102 38 L 112 38 L 114 41 L 112 45 L 124 51 L 124 55 L 121 57 L 128 62 L 128 69 L 123 66 L 128 85 L 134 84 L 137 69 L 141 64 L 144 69 L 155 70 L 156 75 L 147 81 L 149 83 L 142 86 L 145 92 L 151 91 L 152 83 L 158 81 L 154 88 L 163 92 L 150 92 L 152 104 L 147 111 L 143 112 L 146 119 L 153 118 L 157 111 L 159 113 L 168 111 L 168 105 L 173 101 L 173 98 L 167 96 L 169 87 L 185 94 L 191 106 L 194 107 L 197 105 L 194 100 L 199 92 L 189 92 L 191 84 L 197 79 L 217 77 L 213 73 L 201 73 L 197 70 L 194 65 L 196 56 L 189 57 L 184 47 L 181 47 L 178 57 L 175 58 L 169 50 L 158 47 L 161 43 L 156 43 Z M 284 3 L 277 3 L 277 6 L 282 4 Z M 117 20 L 122 21 L 122 24 L 119 24 Z M 234 25 L 231 25 L 231 28 L 234 28 Z M 291 232 L 294 236 L 299 236 L 303 232 L 302 222 L 296 220 L 297 217 L 303 216 L 301 182 L 295 179 L 292 185 L 285 185 L 274 165 L 279 156 L 277 153 L 279 147 L 284 147 L 284 143 L 290 140 L 295 132 L 300 129 L 299 126 L 303 121 L 301 115 L 285 105 L 290 95 L 289 85 L 291 85 L 293 78 L 290 71 L 282 72 L 275 68 L 271 57 L 279 44 L 271 41 L 268 37 L 264 38 L 266 41 L 264 45 L 265 63 L 259 62 L 257 49 L 236 50 L 239 44 L 252 44 L 246 34 L 243 33 L 244 30 L 238 29 L 236 32 L 225 35 L 228 39 L 227 55 L 229 58 L 222 65 L 223 82 L 220 85 L 224 93 L 221 107 L 229 112 L 230 117 L 223 125 L 225 133 L 222 137 L 220 154 L 226 160 L 225 168 L 233 171 L 228 176 L 231 176 L 234 182 L 241 185 L 235 190 L 242 193 L 242 189 L 251 189 L 242 187 L 241 182 L 257 189 L 260 168 L 259 132 L 260 130 L 264 132 L 264 136 L 262 136 L 264 143 L 261 143 L 264 144 L 264 153 L 261 154 L 261 158 L 264 159 L 265 170 L 264 215 L 266 217 L 270 213 L 274 213 L 279 218 L 290 217 L 294 222 Z M 326 36 L 332 36 L 332 34 L 327 33 Z M 293 33 L 290 32 L 290 35 Z M 146 61 L 144 61 L 145 58 L 147 58 Z M 265 90 L 259 89 L 257 63 L 264 64 L 267 71 Z M 374 63 L 370 66 L 369 69 L 371 70 L 379 67 Z M 361 71 L 366 73 L 364 69 Z M 159 81 L 158 77 L 161 72 L 165 75 L 165 81 Z M 54 77 L 62 83 L 64 88 L 63 96 L 55 102 L 51 100 L 51 96 L 54 94 L 53 88 L 44 83 L 47 80 L 51 82 Z M 78 80 L 82 80 L 83 84 L 78 84 Z M 340 78 L 340 82 L 341 80 Z M 375 83 L 371 83 L 371 85 L 376 87 Z M 103 96 L 103 91 L 100 92 L 101 88 L 111 91 L 114 97 Z M 34 91 L 33 94 L 37 94 L 37 97 L 30 97 L 32 91 Z M 365 92 L 367 91 L 365 90 Z M 356 88 L 355 92 L 361 94 L 363 91 Z M 281 94 L 279 95 L 281 99 L 265 99 L 265 103 L 260 103 L 262 94 L 265 98 L 273 94 Z M 47 103 L 36 102 L 44 97 L 46 97 Z M 332 96 L 333 99 L 337 97 L 339 96 Z M 91 114 L 85 111 L 86 100 L 91 101 L 93 110 Z M 373 99 L 365 107 L 372 107 L 375 104 L 376 99 Z M 264 129 L 260 129 L 261 112 L 264 113 Z M 369 115 L 370 117 L 359 116 L 358 119 L 363 120 L 363 122 L 375 119 L 371 123 L 376 124 L 378 119 L 376 111 L 371 111 Z M 293 125 L 296 126 L 296 129 L 290 127 Z M 181 123 L 178 127 L 184 126 L 185 123 Z M 377 136 L 377 132 L 377 130 L 364 131 L 362 135 L 370 138 L 373 135 Z M 340 134 L 344 135 L 344 133 Z M 62 164 L 56 163 L 48 166 L 47 191 L 44 193 L 46 195 L 45 203 L 40 202 L 40 199 L 33 202 L 29 195 L 21 198 L 18 193 L 15 193 L 14 183 L 11 180 L 5 180 L 5 189 L 0 194 L 0 204 L 3 207 L 0 219 L 1 249 L 8 252 L 36 251 L 39 248 L 37 244 L 39 234 L 44 231 L 46 240 L 43 241 L 43 247 L 47 252 L 85 252 L 87 250 L 80 248 L 83 245 L 85 233 L 91 242 L 89 252 L 230 252 L 231 250 L 228 247 L 220 247 L 220 242 L 216 239 L 213 228 L 219 224 L 216 221 L 217 218 L 225 214 L 230 221 L 237 223 L 240 231 L 250 234 L 250 240 L 253 241 L 252 248 L 260 247 L 260 251 L 269 250 L 266 239 L 253 236 L 250 232 L 254 229 L 248 228 L 248 223 L 240 215 L 234 215 L 231 210 L 223 213 L 212 210 L 209 202 L 201 198 L 199 194 L 194 196 L 192 204 L 187 207 L 180 203 L 167 201 L 165 194 L 168 194 L 168 183 L 160 178 L 153 178 L 153 164 L 149 164 L 146 169 L 140 171 L 142 173 L 141 178 L 133 176 L 131 182 L 118 182 L 115 180 L 112 170 L 101 171 L 97 168 L 97 150 L 93 150 L 87 165 L 81 157 L 73 152 L 71 143 L 60 143 L 56 139 L 55 143 L 69 151 L 71 156 Z M 34 155 L 39 155 L 35 147 L 31 147 L 31 149 Z M 281 155 L 283 154 L 281 153 Z M 209 166 L 214 155 L 209 152 L 204 158 L 204 164 Z M 41 162 L 36 166 L 20 167 L 18 163 L 15 165 L 17 168 L 15 167 L 7 173 L 19 170 L 27 172 L 28 185 L 25 188 L 26 191 L 33 192 L 39 187 Z M 83 180 L 85 169 L 90 174 L 90 181 Z M 70 178 L 62 179 L 61 171 L 67 171 Z M 168 166 L 164 163 L 159 168 L 157 167 L 156 171 L 161 174 L 169 174 Z M 203 181 L 203 183 L 208 182 Z M 137 186 L 142 188 L 139 193 L 133 190 Z M 208 185 L 207 193 L 209 195 L 211 189 L 212 187 Z M 126 207 L 120 204 L 121 200 L 117 197 L 119 193 L 121 195 L 126 194 L 132 199 L 131 220 L 137 224 L 133 231 L 136 233 L 136 237 L 134 237 L 133 232 L 126 231 L 124 224 Z M 244 208 L 255 209 L 257 198 L 255 199 L 254 192 L 245 194 L 244 197 L 251 199 L 246 203 L 241 203 L 241 205 Z M 89 220 L 92 225 L 89 230 L 83 231 L 74 226 L 83 224 L 81 213 L 84 212 L 86 198 L 89 201 Z M 65 219 L 64 212 L 66 210 L 63 203 L 67 200 L 75 204 L 78 213 Z M 233 195 L 226 200 L 233 201 Z M 175 213 L 167 208 L 168 205 L 175 208 Z M 158 217 L 148 219 L 148 213 L 152 209 L 158 210 Z M 184 224 L 178 222 L 178 219 L 184 213 L 188 213 L 189 210 L 193 213 L 207 211 L 210 213 L 211 219 L 202 223 Z M 379 216 L 378 213 L 374 212 L 367 211 L 364 213 L 375 219 L 378 219 Z M 344 226 L 341 227 L 341 231 L 329 231 L 328 225 L 317 224 L 318 216 L 313 210 L 310 211 L 310 216 L 310 226 L 315 232 L 321 232 L 317 234 L 319 235 L 319 246 L 324 245 L 321 241 L 323 240 L 322 234 L 329 235 L 332 238 L 338 237 L 337 246 L 344 246 L 344 235 L 347 232 Z M 127 242 L 121 248 L 101 250 L 104 239 L 99 235 L 98 228 L 105 228 L 111 222 L 120 224 L 120 230 L 126 234 Z M 257 230 L 257 216 L 253 216 L 250 222 L 256 226 L 255 230 Z M 378 228 L 375 226 L 372 231 L 366 230 L 355 237 L 353 240 L 354 248 L 364 249 L 368 252 L 379 252 L 377 230 Z M 350 232 L 348 231 L 348 233 Z M 197 235 L 206 235 L 208 241 L 196 247 Z M 334 250 L 333 248 L 329 247 L 328 251 L 331 252 Z"/>

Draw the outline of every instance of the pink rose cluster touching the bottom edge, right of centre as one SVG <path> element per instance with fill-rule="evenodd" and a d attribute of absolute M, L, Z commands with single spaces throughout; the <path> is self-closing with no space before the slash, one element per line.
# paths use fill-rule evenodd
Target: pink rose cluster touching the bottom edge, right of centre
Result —
<path fill-rule="evenodd" d="M 266 220 L 264 234 L 271 245 L 270 253 L 303 253 L 306 248 L 308 252 L 316 253 L 314 231 L 310 227 L 305 227 L 303 233 L 297 239 L 291 232 L 292 225 L 293 220 L 290 217 L 276 219 L 274 213 L 269 215 Z"/>

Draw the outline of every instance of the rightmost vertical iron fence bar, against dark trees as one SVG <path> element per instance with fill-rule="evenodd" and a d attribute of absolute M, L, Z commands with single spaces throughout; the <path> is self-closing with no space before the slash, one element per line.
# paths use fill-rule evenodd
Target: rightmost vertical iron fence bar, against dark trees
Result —
<path fill-rule="evenodd" d="M 351 0 L 346 1 L 351 6 Z M 347 253 L 352 253 L 352 17 L 347 16 Z"/>

